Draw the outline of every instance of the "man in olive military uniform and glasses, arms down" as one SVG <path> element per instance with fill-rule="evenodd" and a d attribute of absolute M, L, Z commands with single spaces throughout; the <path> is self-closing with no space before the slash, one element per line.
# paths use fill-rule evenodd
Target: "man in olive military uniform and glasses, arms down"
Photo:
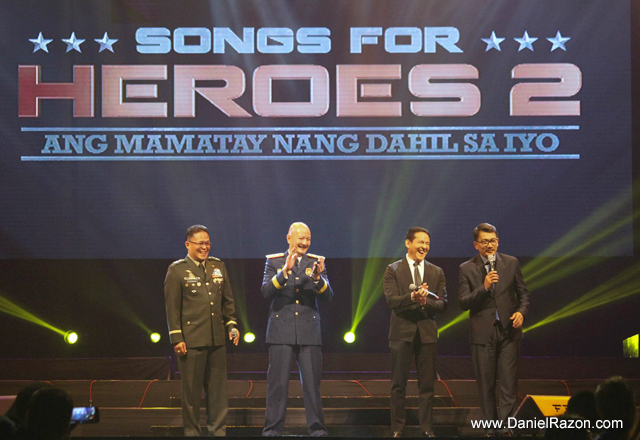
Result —
<path fill-rule="evenodd" d="M 185 436 L 199 436 L 204 388 L 209 434 L 226 435 L 228 411 L 225 338 L 238 345 L 236 310 L 227 269 L 209 257 L 209 232 L 187 229 L 187 257 L 173 262 L 164 280 L 169 336 L 178 355 Z"/>

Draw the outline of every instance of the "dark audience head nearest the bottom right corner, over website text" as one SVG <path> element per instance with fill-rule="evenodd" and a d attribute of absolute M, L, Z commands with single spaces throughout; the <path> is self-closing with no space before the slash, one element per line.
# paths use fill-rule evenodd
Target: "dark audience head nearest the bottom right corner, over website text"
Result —
<path fill-rule="evenodd" d="M 596 440 L 626 440 L 633 427 L 636 403 L 633 389 L 620 376 L 610 377 L 596 389 L 600 420 L 622 420 L 622 428 L 604 429 Z"/>

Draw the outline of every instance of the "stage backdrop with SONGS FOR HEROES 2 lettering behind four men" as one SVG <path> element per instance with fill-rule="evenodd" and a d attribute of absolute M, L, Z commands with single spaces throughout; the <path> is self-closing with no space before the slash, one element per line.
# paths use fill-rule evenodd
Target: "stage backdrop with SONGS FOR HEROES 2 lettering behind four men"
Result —
<path fill-rule="evenodd" d="M 164 271 L 196 223 L 258 341 L 264 255 L 307 223 L 337 293 L 332 351 L 356 320 L 358 349 L 387 350 L 380 280 L 410 226 L 447 271 L 441 326 L 482 221 L 523 261 L 528 325 L 640 272 L 629 1 L 27 0 L 0 21 L 0 309 L 91 329 L 101 351 L 81 353 L 121 355 L 129 327 L 166 337 Z M 598 310 L 629 328 L 581 334 L 617 353 L 637 329 Z M 467 352 L 465 326 L 441 352 Z M 530 335 L 539 354 L 558 340 Z"/>

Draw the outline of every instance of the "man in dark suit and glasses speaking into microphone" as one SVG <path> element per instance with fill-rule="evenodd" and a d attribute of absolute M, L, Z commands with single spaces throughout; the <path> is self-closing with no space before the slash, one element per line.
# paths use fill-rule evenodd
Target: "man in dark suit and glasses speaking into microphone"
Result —
<path fill-rule="evenodd" d="M 460 266 L 458 304 L 469 310 L 471 356 L 480 392 L 480 408 L 485 420 L 501 420 L 516 410 L 518 360 L 522 323 L 529 311 L 529 291 L 520 263 L 515 257 L 498 253 L 498 231 L 489 223 L 473 230 L 478 250 Z M 496 411 L 496 380 L 499 410 Z M 504 428 L 487 430 L 487 436 L 510 435 Z"/>

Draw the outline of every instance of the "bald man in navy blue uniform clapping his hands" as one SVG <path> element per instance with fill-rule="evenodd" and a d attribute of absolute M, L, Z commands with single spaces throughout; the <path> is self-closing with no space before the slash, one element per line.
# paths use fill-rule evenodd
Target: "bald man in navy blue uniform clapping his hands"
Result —
<path fill-rule="evenodd" d="M 330 301 L 324 257 L 307 253 L 311 231 L 294 223 L 287 234 L 289 250 L 267 255 L 262 295 L 271 300 L 266 343 L 269 345 L 267 408 L 264 436 L 281 436 L 287 412 L 291 360 L 296 359 L 302 382 L 307 428 L 312 437 L 329 435 L 324 426 L 320 374 L 322 338 L 318 300 Z"/>

